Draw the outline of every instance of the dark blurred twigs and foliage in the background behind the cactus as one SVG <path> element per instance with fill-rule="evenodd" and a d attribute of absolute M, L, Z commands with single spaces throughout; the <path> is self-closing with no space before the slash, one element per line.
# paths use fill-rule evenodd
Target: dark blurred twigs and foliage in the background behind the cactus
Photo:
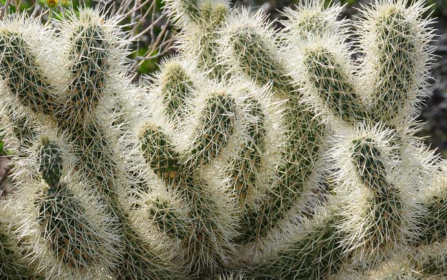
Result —
<path fill-rule="evenodd" d="M 270 19 L 281 19 L 279 12 L 285 6 L 293 6 L 301 0 L 231 0 L 232 5 L 250 5 L 260 7 Z M 360 5 L 371 0 L 326 0 L 345 5 L 342 17 L 356 18 Z M 409 0 L 411 1 L 411 0 Z M 32 16 L 42 16 L 43 21 L 49 17 L 63 16 L 67 8 L 99 6 L 109 14 L 124 14 L 121 24 L 130 36 L 136 38 L 129 47 L 129 58 L 134 71 L 134 80 L 140 75 L 150 75 L 157 70 L 157 65 L 165 56 L 174 54 L 175 27 L 169 23 L 169 15 L 163 10 L 162 0 L 0 0 L 1 16 L 14 12 L 27 12 Z M 435 19 L 433 28 L 437 34 L 435 59 L 431 68 L 433 80 L 430 80 L 430 93 L 422 106 L 419 121 L 424 123 L 419 136 L 425 137 L 426 143 L 439 150 L 447 158 L 447 0 L 427 0 L 430 5 L 426 16 Z M 281 25 L 276 25 L 281 28 Z M 361 54 L 359 54 L 361 55 Z M 1 100 L 0 100 L 1 106 Z M 5 155 L 6 145 L 0 139 L 0 156 Z"/>

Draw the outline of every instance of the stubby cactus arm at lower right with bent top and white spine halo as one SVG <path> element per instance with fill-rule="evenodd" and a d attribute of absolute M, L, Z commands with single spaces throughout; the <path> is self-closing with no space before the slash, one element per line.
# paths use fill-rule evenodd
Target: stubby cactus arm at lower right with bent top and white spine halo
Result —
<path fill-rule="evenodd" d="M 360 259 L 377 261 L 406 246 L 413 238 L 417 206 L 412 196 L 411 176 L 398 165 L 389 139 L 391 134 L 358 132 L 335 144 L 334 161 L 340 169 L 334 176 L 341 202 L 344 246 Z M 346 143 L 343 143 L 346 142 Z M 342 151 L 342 152 L 341 152 Z"/>

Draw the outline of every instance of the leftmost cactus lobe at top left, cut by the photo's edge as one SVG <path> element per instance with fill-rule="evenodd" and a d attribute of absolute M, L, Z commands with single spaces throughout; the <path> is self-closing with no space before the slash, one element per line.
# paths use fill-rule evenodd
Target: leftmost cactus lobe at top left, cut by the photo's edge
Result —
<path fill-rule="evenodd" d="M 50 58 L 41 55 L 46 54 L 43 38 L 57 47 L 54 36 L 36 20 L 25 20 L 23 16 L 3 20 L 0 71 L 14 100 L 35 113 L 54 115 L 56 89 L 50 82 L 54 73 L 45 65 Z"/>

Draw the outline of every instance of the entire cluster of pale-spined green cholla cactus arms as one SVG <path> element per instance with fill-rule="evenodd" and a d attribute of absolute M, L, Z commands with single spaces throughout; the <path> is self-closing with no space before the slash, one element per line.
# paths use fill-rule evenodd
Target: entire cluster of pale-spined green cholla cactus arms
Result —
<path fill-rule="evenodd" d="M 179 54 L 142 86 L 119 17 L 4 19 L 1 277 L 447 277 L 447 164 L 414 136 L 426 8 L 323 2 L 276 30 L 170 0 Z"/>

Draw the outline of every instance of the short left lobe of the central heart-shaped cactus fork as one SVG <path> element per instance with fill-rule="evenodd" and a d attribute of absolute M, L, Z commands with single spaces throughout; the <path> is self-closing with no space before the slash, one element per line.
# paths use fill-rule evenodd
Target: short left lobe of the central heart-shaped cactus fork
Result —
<path fill-rule="evenodd" d="M 168 135 L 160 127 L 146 123 L 140 128 L 140 145 L 146 163 L 166 183 L 175 180 L 179 171 L 179 154 L 175 152 Z"/>

